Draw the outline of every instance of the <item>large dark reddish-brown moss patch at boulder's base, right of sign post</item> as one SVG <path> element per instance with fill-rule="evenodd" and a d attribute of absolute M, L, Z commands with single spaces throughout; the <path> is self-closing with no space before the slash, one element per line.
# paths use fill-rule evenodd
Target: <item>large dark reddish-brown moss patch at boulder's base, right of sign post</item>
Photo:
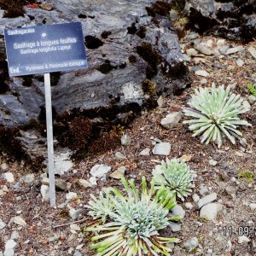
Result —
<path fill-rule="evenodd" d="M 131 124 L 142 111 L 137 103 L 119 107 L 116 104 L 120 100 L 119 96 L 109 98 L 113 103 L 109 108 L 74 108 L 57 115 L 54 136 L 61 146 L 75 150 L 74 160 L 89 154 L 102 154 L 102 150 L 105 152 L 107 148 L 117 147 L 121 135 L 119 131 Z"/>

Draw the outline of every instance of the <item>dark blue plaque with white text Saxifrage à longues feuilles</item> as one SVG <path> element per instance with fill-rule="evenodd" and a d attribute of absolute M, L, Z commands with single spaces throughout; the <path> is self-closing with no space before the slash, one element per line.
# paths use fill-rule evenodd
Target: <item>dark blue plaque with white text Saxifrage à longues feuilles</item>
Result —
<path fill-rule="evenodd" d="M 88 67 L 80 22 L 5 29 L 9 76 Z"/>

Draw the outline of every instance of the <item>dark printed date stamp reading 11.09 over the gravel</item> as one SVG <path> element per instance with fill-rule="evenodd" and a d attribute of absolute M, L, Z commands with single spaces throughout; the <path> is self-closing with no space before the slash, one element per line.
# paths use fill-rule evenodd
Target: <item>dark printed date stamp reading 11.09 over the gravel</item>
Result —
<path fill-rule="evenodd" d="M 237 228 L 232 226 L 225 226 L 222 230 L 224 236 L 247 236 L 250 238 L 256 237 L 256 228 L 251 226 L 239 226 Z"/>

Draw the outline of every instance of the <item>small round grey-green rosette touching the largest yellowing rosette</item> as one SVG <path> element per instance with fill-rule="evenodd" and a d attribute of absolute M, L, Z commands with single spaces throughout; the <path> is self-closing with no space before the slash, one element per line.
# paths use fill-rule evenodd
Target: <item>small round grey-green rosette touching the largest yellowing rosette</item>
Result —
<path fill-rule="evenodd" d="M 177 159 L 162 161 L 161 166 L 153 170 L 153 181 L 156 189 L 166 187 L 166 193 L 175 193 L 182 201 L 188 196 L 195 185 L 189 166 L 184 161 Z"/>

